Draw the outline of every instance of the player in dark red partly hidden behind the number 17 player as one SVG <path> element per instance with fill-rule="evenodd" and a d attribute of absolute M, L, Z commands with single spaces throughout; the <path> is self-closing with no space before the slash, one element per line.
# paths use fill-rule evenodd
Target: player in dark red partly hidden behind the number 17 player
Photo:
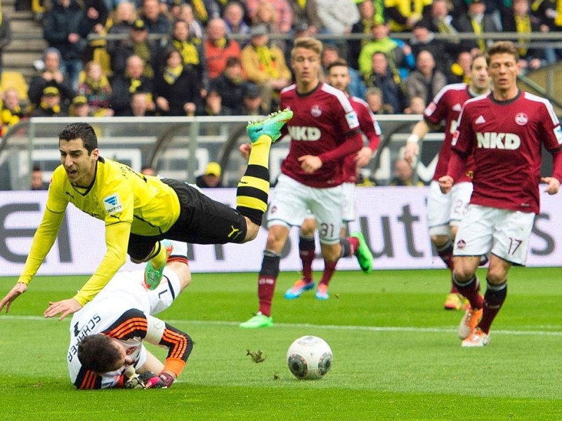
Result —
<path fill-rule="evenodd" d="M 439 151 L 439 158 L 427 198 L 427 220 L 431 242 L 439 256 L 452 272 L 453 239 L 457 234 L 459 223 L 466 212 L 472 193 L 471 178 L 466 175 L 473 167 L 473 159 L 466 163 L 466 171 L 459 180 L 455 181 L 451 192 L 442 194 L 438 180 L 447 173 L 447 163 L 451 157 L 451 139 L 457 130 L 457 119 L 461 113 L 462 105 L 466 100 L 490 91 L 490 75 L 488 63 L 484 55 L 473 58 L 470 69 L 470 83 L 452 83 L 445 86 L 433 98 L 433 101 L 424 111 L 424 119 L 418 121 L 412 134 L 406 142 L 404 158 L 410 164 L 414 156 L 419 154 L 419 140 L 429 133 L 431 126 L 444 126 L 445 139 Z M 445 298 L 445 309 L 461 309 L 466 300 L 451 281 L 451 290 Z"/>

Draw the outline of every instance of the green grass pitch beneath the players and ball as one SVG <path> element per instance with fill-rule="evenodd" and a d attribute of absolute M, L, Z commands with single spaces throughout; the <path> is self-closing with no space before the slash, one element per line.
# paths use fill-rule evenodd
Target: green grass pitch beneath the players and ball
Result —
<path fill-rule="evenodd" d="M 312 292 L 285 300 L 297 275 L 282 273 L 275 326 L 261 330 L 238 328 L 257 309 L 256 274 L 194 274 L 161 314 L 195 342 L 178 382 L 91 392 L 67 377 L 70 318 L 42 318 L 86 278 L 39 277 L 0 314 L 0 420 L 561 420 L 560 274 L 511 269 L 481 349 L 460 347 L 462 314 L 442 308 L 445 270 L 336 272 L 325 302 Z M 14 282 L 0 278 L 0 296 Z M 286 366 L 287 348 L 306 334 L 334 352 L 322 380 L 296 380 Z"/>

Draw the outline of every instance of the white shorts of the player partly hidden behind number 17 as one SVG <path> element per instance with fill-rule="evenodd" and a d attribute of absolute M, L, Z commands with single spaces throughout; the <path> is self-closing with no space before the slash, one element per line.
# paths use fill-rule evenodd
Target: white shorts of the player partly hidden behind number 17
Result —
<path fill-rule="evenodd" d="M 439 183 L 431 180 L 427 196 L 429 235 L 450 236 L 450 227 L 459 225 L 466 213 L 471 194 L 471 182 L 459 182 L 453 185 L 450 192 L 443 194 L 439 189 Z"/>

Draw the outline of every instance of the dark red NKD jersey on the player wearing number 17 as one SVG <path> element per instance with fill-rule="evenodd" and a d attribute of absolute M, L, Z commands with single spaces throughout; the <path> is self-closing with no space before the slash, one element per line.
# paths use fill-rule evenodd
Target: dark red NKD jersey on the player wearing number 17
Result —
<path fill-rule="evenodd" d="M 548 100 L 520 91 L 504 102 L 491 95 L 466 101 L 452 148 L 474 156 L 471 203 L 538 213 L 541 144 L 551 152 L 562 145 Z"/>

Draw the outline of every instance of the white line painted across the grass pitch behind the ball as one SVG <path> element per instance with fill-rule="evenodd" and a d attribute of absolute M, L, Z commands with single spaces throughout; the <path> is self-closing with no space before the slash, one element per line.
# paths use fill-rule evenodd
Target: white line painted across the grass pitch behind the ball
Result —
<path fill-rule="evenodd" d="M 11 316 L 0 315 L 0 322 L 2 320 L 31 320 L 31 321 L 46 321 L 41 316 Z M 70 319 L 68 319 L 70 321 Z M 213 326 L 238 326 L 238 321 L 218 321 L 218 320 L 169 320 L 166 322 L 176 324 L 192 324 L 192 325 L 213 325 Z M 329 330 L 363 330 L 366 332 L 429 332 L 429 333 L 455 333 L 457 328 L 450 327 L 436 327 L 436 328 L 417 328 L 413 326 L 337 326 L 337 325 L 315 325 L 311 323 L 275 323 L 276 328 L 315 328 L 315 329 L 329 329 Z M 538 326 L 529 326 L 530 329 Z M 562 326 L 544 326 L 541 328 L 561 329 Z M 549 330 L 506 330 L 494 329 L 493 333 L 502 335 L 521 335 L 521 336 L 562 336 L 562 331 L 549 331 Z"/>

